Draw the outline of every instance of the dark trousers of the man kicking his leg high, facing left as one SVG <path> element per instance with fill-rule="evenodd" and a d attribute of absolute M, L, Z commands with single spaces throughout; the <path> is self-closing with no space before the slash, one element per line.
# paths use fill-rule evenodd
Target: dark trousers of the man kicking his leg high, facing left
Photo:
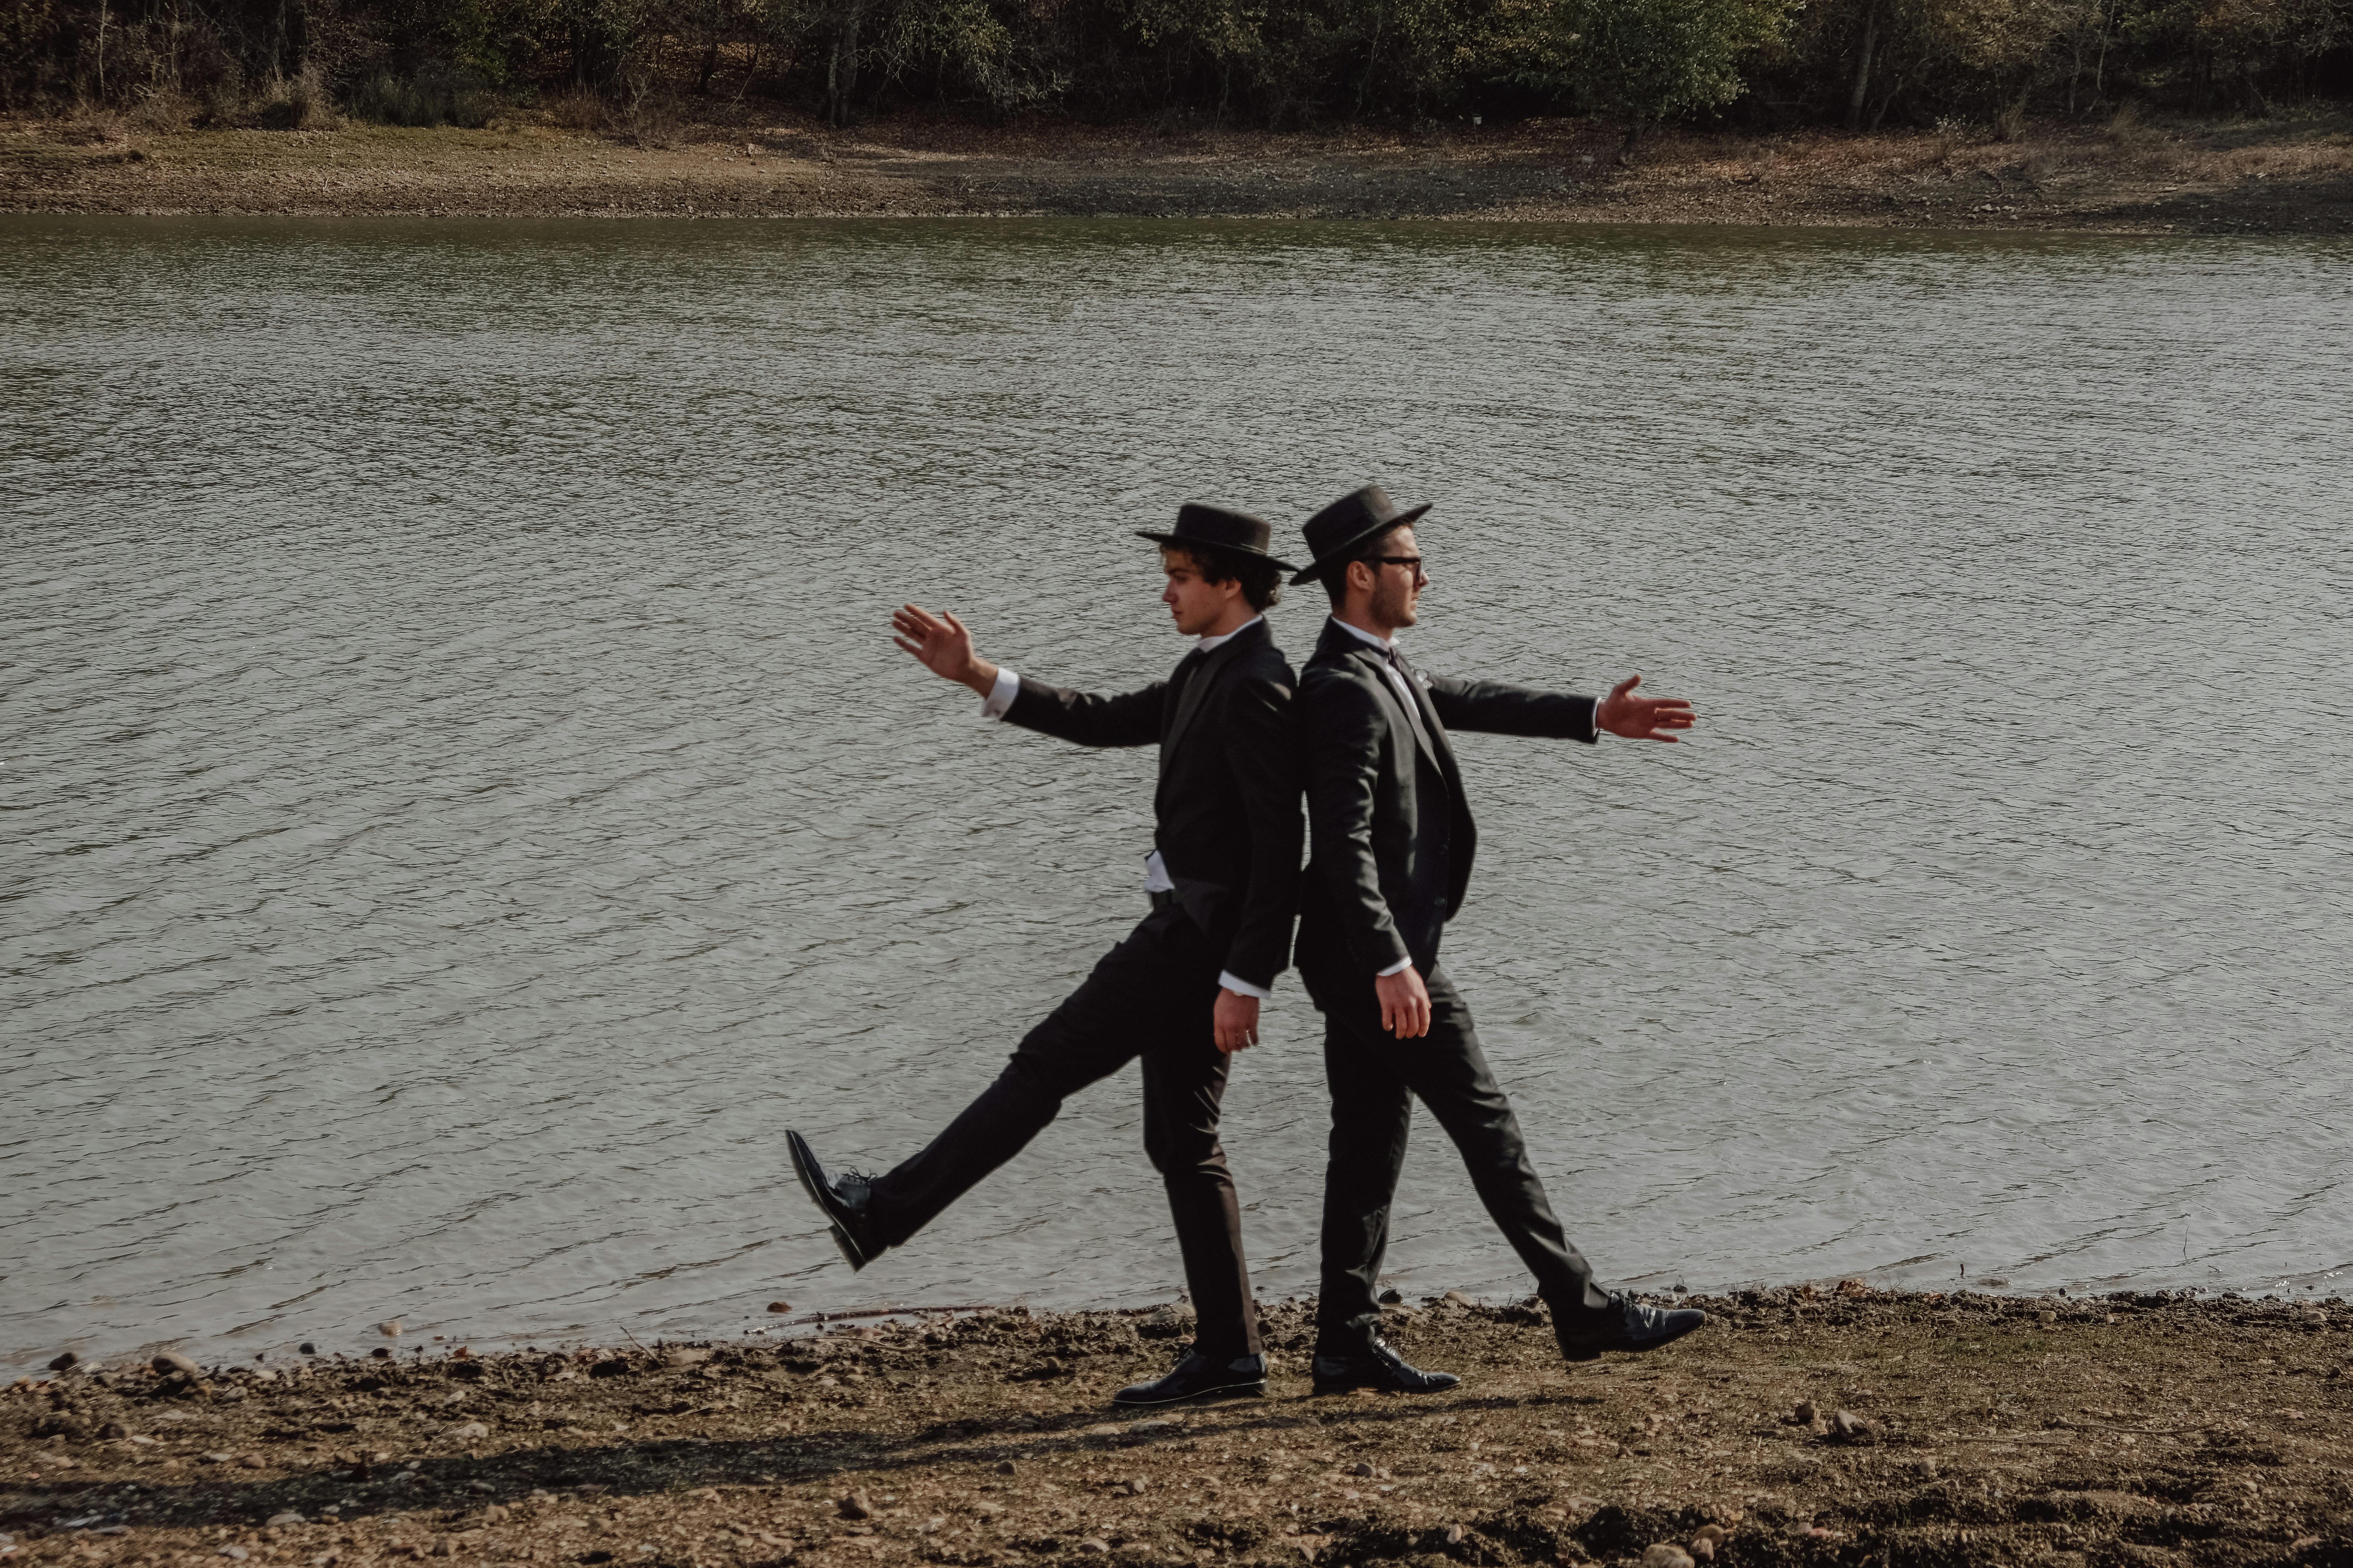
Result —
<path fill-rule="evenodd" d="M 1217 1140 L 1228 1058 L 1209 1032 L 1219 957 L 1184 910 L 1153 910 L 1028 1032 L 1005 1072 L 922 1152 L 873 1190 L 880 1237 L 899 1246 L 1021 1152 L 1061 1103 L 1144 1058 L 1144 1152 L 1167 1185 L 1186 1288 L 1209 1356 L 1259 1354 L 1242 1262 L 1242 1208 Z"/>

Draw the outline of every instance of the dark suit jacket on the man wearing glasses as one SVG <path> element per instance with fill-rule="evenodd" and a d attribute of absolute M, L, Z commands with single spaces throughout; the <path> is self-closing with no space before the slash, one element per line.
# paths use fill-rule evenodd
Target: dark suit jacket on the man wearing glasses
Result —
<path fill-rule="evenodd" d="M 1299 969 L 1428 971 L 1478 853 L 1449 729 L 1593 743 L 1595 701 L 1414 670 L 1407 712 L 1381 649 L 1325 623 L 1299 677 L 1315 851 L 1299 907 Z M 1419 719 L 1419 724 L 1417 724 Z M 1313 976 L 1311 976 L 1313 978 Z"/>

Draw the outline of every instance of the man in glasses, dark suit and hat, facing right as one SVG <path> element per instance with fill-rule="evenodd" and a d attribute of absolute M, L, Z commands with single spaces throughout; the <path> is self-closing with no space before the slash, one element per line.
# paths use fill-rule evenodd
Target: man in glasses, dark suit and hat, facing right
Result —
<path fill-rule="evenodd" d="M 1569 1361 L 1657 1349 L 1706 1321 L 1701 1312 L 1664 1312 L 1593 1281 L 1527 1161 L 1471 1009 L 1438 966 L 1438 943 L 1461 907 L 1478 846 L 1447 731 L 1588 745 L 1602 733 L 1675 741 L 1675 731 L 1692 726 L 1692 705 L 1635 696 L 1640 675 L 1595 701 L 1414 670 L 1395 635 L 1417 623 L 1431 581 L 1414 541 L 1414 522 L 1428 510 L 1398 510 L 1379 487 L 1334 501 L 1306 522 L 1313 564 L 1292 578 L 1320 581 L 1332 595 L 1332 621 L 1294 701 L 1313 832 L 1297 957 L 1299 978 L 1325 1016 L 1332 1088 L 1318 1394 L 1362 1387 L 1433 1394 L 1459 1382 L 1409 1366 L 1379 1333 L 1374 1288 L 1417 1095 L 1537 1276 Z"/>

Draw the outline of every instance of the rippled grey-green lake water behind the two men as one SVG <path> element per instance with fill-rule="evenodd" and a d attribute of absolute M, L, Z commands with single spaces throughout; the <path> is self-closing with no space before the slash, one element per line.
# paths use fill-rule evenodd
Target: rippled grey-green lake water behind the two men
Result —
<path fill-rule="evenodd" d="M 1129 529 L 1438 503 L 1447 945 L 1605 1279 L 2353 1267 L 2353 244 L 1217 223 L 0 221 L 0 1363 L 1179 1288 L 1134 1072 L 852 1276 L 1141 912 Z M 1304 658 L 1322 611 L 1275 611 Z M 1297 980 L 1231 1093 L 1313 1288 Z M 1525 1291 L 1421 1117 L 1409 1293 Z"/>

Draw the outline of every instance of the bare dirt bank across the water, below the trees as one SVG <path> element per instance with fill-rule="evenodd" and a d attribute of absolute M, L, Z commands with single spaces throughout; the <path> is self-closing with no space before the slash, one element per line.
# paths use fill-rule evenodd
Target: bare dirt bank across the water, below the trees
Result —
<path fill-rule="evenodd" d="M 1633 167 L 1584 120 L 1247 134 L 141 129 L 0 122 L 0 212 L 318 216 L 1289 216 L 2353 233 L 2353 115 L 1845 136 L 1678 134 Z"/>

